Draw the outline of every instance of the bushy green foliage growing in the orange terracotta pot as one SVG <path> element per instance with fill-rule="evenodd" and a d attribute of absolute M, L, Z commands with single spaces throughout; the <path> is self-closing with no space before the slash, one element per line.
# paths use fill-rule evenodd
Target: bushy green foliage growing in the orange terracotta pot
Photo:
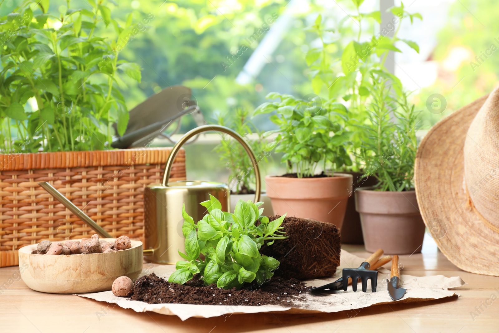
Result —
<path fill-rule="evenodd" d="M 254 114 L 275 112 L 270 120 L 278 126 L 276 152 L 283 152 L 282 162 L 288 173 L 298 178 L 313 177 L 318 166 L 326 170 L 351 165 L 345 145 L 351 132 L 344 129 L 346 107 L 337 102 L 322 104 L 318 96 L 310 99 L 288 94 L 269 93 L 278 99 L 256 108 Z"/>

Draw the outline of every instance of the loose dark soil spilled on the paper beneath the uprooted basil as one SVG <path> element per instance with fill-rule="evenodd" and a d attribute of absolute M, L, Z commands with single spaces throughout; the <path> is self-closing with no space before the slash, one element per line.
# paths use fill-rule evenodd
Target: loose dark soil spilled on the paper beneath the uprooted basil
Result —
<path fill-rule="evenodd" d="M 272 278 L 261 286 L 247 284 L 240 290 L 228 290 L 217 288 L 215 284 L 205 286 L 200 280 L 191 280 L 185 285 L 169 283 L 152 273 L 135 282 L 131 299 L 149 304 L 289 306 L 295 296 L 300 296 L 306 289 L 307 287 L 296 279 L 283 280 L 280 277 Z"/>

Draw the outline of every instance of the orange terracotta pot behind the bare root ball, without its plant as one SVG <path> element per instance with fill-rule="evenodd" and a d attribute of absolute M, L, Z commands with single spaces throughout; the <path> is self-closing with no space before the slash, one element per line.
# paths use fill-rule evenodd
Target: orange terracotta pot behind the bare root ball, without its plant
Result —
<path fill-rule="evenodd" d="M 266 176 L 267 196 L 274 214 L 333 223 L 341 229 L 348 197 L 352 193 L 352 175 L 289 178 Z"/>

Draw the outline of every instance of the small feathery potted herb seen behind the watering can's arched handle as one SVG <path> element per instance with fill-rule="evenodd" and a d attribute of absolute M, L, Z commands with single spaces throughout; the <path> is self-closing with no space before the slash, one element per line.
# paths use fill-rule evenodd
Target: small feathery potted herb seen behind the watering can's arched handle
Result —
<path fill-rule="evenodd" d="M 272 147 L 267 143 L 263 132 L 258 131 L 250 121 L 246 109 L 237 108 L 227 116 L 219 116 L 218 124 L 232 128 L 244 137 L 253 150 L 257 163 L 268 161 Z M 231 210 L 234 213 L 239 200 L 248 201 L 254 198 L 255 176 L 250 157 L 242 145 L 235 145 L 234 139 L 225 134 L 222 134 L 220 144 L 215 147 L 215 151 L 219 154 L 220 161 L 230 171 L 228 184 L 232 188 Z M 260 200 L 263 202 L 261 208 L 265 209 L 268 216 L 272 215 L 270 199 L 265 192 L 261 193 Z"/>

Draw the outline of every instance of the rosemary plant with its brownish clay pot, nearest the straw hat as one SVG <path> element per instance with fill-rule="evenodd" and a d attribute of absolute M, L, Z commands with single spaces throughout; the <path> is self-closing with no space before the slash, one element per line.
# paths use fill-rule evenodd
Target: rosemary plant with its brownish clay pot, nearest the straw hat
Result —
<path fill-rule="evenodd" d="M 414 191 L 414 162 L 419 128 L 414 104 L 400 82 L 373 74 L 369 122 L 360 126 L 365 139 L 359 158 L 364 176 L 374 177 L 374 187 L 355 191 L 367 251 L 383 248 L 387 254 L 420 252 L 425 225 Z M 392 119 L 395 118 L 395 121 Z"/>

